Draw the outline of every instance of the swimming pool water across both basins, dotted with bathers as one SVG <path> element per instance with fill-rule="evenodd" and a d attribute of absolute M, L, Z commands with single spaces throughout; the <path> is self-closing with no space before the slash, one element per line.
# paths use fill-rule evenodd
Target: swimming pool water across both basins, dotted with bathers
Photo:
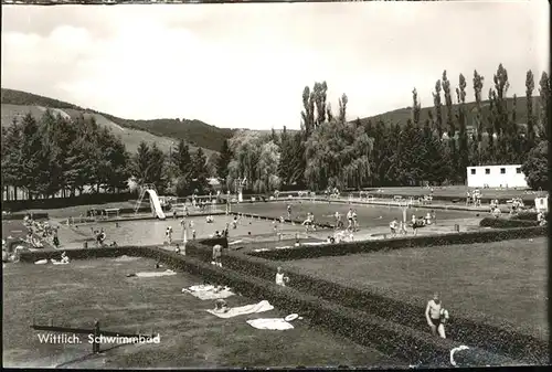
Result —
<path fill-rule="evenodd" d="M 233 204 L 232 212 L 238 213 L 251 213 L 255 215 L 268 216 L 268 217 L 287 217 L 287 205 L 285 202 L 261 202 L 261 203 L 244 203 L 244 204 Z M 293 202 L 291 203 L 291 217 L 294 220 L 305 220 L 307 212 L 315 214 L 317 222 L 325 222 L 329 224 L 335 224 L 333 213 L 339 211 L 342 214 L 343 223 L 347 223 L 347 212 L 349 208 L 353 208 L 358 213 L 358 221 L 361 231 L 374 233 L 376 231 L 373 227 L 384 227 L 389 226 L 389 223 L 394 219 L 402 220 L 403 211 L 401 208 L 396 206 L 381 206 L 381 205 L 359 205 L 359 204 L 343 204 L 343 203 L 331 203 L 326 202 Z M 407 210 L 407 219 L 410 220 L 413 214 L 422 216 L 425 215 L 431 210 L 428 209 L 417 209 L 412 208 Z M 445 211 L 437 210 L 437 221 L 444 220 L 461 220 L 461 219 L 474 219 L 477 212 L 464 212 L 464 211 Z M 229 237 L 244 241 L 278 241 L 277 232 L 275 226 L 277 226 L 278 232 L 283 234 L 283 240 L 290 240 L 295 237 L 296 233 L 299 233 L 301 238 L 306 238 L 307 234 L 305 232 L 305 226 L 301 224 L 291 223 L 274 223 L 273 221 L 258 220 L 256 217 L 242 217 L 237 224 L 237 228 L 232 228 L 232 220 L 234 215 L 214 215 L 214 221 L 212 223 L 206 223 L 205 216 L 191 216 L 187 217 L 187 222 L 193 222 L 193 227 L 188 227 L 188 240 L 192 238 L 192 228 L 195 230 L 195 238 L 206 238 L 214 236 L 215 232 L 222 232 L 230 223 Z M 106 243 L 117 242 L 118 245 L 158 245 L 163 244 L 167 241 L 166 231 L 168 226 L 172 227 L 172 241 L 181 241 L 183 238 L 183 228 L 180 224 L 181 219 L 172 219 L 168 215 L 164 221 L 160 220 L 138 220 L 138 221 L 119 221 L 114 222 L 103 222 L 95 224 L 83 224 L 78 227 L 72 227 L 73 233 L 79 234 L 79 242 L 91 240 L 93 236 L 93 231 L 104 228 L 106 233 Z M 248 234 L 251 232 L 251 235 Z M 386 231 L 385 231 L 386 232 Z M 316 236 L 317 238 L 326 238 L 329 235 L 328 230 L 318 231 L 316 233 L 309 233 L 309 237 Z M 71 243 L 63 237 L 64 243 Z M 78 242 L 73 240 L 73 242 Z M 63 244 L 63 243 L 62 243 Z M 82 246 L 82 243 L 81 243 Z"/>

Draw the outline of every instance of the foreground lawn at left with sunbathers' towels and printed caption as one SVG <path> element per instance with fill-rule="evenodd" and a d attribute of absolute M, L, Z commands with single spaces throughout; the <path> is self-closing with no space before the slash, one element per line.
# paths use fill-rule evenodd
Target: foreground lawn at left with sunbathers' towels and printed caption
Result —
<path fill-rule="evenodd" d="M 164 268 L 161 268 L 161 270 Z M 155 270 L 153 262 L 116 259 L 75 261 L 70 265 L 9 264 L 3 269 L 3 365 L 65 368 L 241 368 L 406 365 L 373 349 L 296 320 L 287 331 L 257 330 L 245 320 L 286 316 L 278 309 L 220 319 L 206 311 L 213 301 L 181 294 L 201 284 L 179 273 L 158 278 L 127 278 L 126 274 Z M 234 296 L 229 306 L 262 300 Z M 119 332 L 160 334 L 160 344 L 103 346 L 91 355 L 82 344 L 45 344 L 30 328 L 36 323 L 92 327 Z"/>

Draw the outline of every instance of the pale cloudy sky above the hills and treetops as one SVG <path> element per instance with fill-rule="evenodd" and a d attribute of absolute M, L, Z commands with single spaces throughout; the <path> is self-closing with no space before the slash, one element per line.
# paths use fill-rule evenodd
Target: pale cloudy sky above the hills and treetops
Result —
<path fill-rule="evenodd" d="M 127 119 L 299 128 L 302 89 L 326 81 L 348 119 L 432 106 L 463 73 L 484 96 L 499 63 L 509 95 L 549 70 L 549 4 L 530 1 L 2 6 L 2 87 Z"/>

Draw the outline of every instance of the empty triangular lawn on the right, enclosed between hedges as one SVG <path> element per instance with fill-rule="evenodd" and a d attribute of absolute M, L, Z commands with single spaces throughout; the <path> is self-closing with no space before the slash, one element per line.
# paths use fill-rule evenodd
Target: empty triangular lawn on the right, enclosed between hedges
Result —
<path fill-rule="evenodd" d="M 546 249 L 548 240 L 542 237 L 299 259 L 285 265 L 348 286 L 390 288 L 420 299 L 421 306 L 438 290 L 452 317 L 478 311 L 548 338 Z"/>

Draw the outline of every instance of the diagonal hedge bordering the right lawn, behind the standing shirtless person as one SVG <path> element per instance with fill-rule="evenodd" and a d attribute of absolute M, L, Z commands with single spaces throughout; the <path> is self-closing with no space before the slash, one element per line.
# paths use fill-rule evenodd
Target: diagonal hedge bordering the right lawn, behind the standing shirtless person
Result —
<path fill-rule="evenodd" d="M 202 254 L 201 249 L 210 252 L 211 247 L 198 242 L 194 249 L 191 255 L 204 259 L 206 255 Z M 210 258 L 208 259 L 210 261 Z M 268 281 L 274 280 L 278 266 L 277 263 L 257 257 L 246 257 L 235 252 L 224 254 L 223 265 L 242 274 Z M 348 287 L 301 274 L 295 268 L 285 268 L 285 272 L 290 278 L 291 286 L 302 293 L 319 296 L 348 308 L 376 315 L 418 331 L 427 331 L 427 323 L 423 317 L 425 304 L 418 299 L 404 298 L 404 296 L 392 290 L 375 287 L 369 289 Z M 469 318 L 455 315 L 454 320 L 447 327 L 447 333 L 452 339 L 461 340 L 469 346 L 509 354 L 528 363 L 548 362 L 546 342 L 520 333 L 513 325 L 506 321 L 497 323 L 497 320 L 477 312 L 471 312 Z"/>

